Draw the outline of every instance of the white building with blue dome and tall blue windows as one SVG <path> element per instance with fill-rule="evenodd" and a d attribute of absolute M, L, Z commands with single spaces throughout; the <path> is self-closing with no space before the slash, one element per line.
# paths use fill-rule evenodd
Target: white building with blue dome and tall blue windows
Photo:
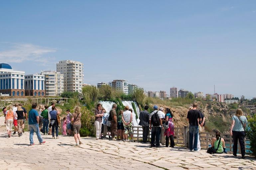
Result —
<path fill-rule="evenodd" d="M 24 75 L 24 71 L 16 71 L 9 64 L 0 63 L 0 93 L 4 96 L 25 96 Z"/>

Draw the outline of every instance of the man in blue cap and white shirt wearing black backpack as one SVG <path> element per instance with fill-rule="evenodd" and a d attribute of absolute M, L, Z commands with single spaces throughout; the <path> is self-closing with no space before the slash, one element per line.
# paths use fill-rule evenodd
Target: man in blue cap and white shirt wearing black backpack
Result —
<path fill-rule="evenodd" d="M 162 115 L 157 111 L 158 107 L 154 106 L 154 111 L 149 116 L 149 125 L 151 129 L 151 147 L 160 147 L 160 134 L 161 128 L 163 129 L 162 124 Z M 156 139 L 156 145 L 154 144 Z"/>

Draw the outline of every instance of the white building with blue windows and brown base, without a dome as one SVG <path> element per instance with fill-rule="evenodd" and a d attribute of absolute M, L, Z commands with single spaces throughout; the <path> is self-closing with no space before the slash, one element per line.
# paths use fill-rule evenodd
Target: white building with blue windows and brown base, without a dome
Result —
<path fill-rule="evenodd" d="M 25 75 L 25 96 L 45 96 L 45 76 Z"/>

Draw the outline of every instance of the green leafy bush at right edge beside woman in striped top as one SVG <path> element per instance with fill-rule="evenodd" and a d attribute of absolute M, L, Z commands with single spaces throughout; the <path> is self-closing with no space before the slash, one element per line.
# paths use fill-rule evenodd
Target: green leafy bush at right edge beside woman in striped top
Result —
<path fill-rule="evenodd" d="M 256 157 L 256 115 L 248 117 L 248 126 L 246 128 L 246 137 L 250 139 L 250 151 Z"/>

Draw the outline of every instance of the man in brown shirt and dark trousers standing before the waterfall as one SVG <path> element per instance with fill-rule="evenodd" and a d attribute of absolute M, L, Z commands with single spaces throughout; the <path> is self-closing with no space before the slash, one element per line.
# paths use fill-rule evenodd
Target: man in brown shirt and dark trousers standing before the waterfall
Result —
<path fill-rule="evenodd" d="M 111 140 L 116 140 L 115 135 L 117 134 L 117 117 L 116 117 L 117 105 L 114 103 L 112 109 L 109 111 L 108 121 L 111 122 Z"/>

